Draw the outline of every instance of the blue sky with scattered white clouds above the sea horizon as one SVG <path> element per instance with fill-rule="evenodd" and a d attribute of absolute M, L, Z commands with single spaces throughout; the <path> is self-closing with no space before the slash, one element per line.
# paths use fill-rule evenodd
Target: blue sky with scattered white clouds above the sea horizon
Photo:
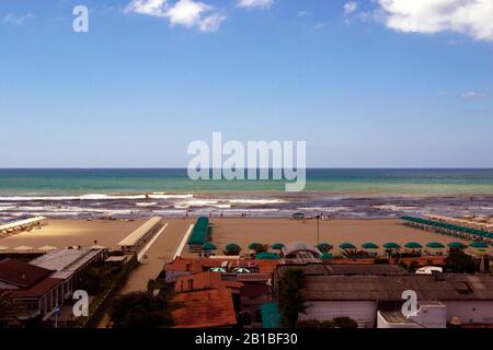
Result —
<path fill-rule="evenodd" d="M 0 0 L 0 167 L 186 167 L 214 131 L 493 167 L 493 1 Z"/>

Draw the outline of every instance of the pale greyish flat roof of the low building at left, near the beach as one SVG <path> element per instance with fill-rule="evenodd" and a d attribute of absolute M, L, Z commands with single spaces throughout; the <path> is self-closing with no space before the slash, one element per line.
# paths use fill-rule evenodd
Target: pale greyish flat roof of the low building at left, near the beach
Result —
<path fill-rule="evenodd" d="M 42 255 L 30 264 L 56 271 L 53 278 L 67 279 L 87 262 L 96 257 L 103 249 L 57 249 Z"/>

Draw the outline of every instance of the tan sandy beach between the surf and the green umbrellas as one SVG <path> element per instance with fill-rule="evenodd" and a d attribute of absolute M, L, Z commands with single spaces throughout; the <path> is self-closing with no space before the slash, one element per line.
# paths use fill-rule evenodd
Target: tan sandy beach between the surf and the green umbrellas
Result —
<path fill-rule="evenodd" d="M 146 220 L 49 220 L 48 224 L 39 230 L 23 232 L 10 237 L 0 238 L 0 245 L 10 249 L 26 245 L 37 248 L 43 245 L 65 247 L 68 245 L 92 246 L 94 241 L 99 245 L 117 249 L 117 243 L 141 225 Z M 145 275 L 157 275 L 165 260 L 173 258 L 194 219 L 163 219 L 168 223 L 161 236 L 152 244 L 146 254 L 140 270 L 148 270 Z M 317 221 L 297 221 L 293 219 L 222 219 L 211 218 L 215 225 L 213 243 L 219 252 L 229 243 L 239 244 L 243 253 L 253 242 L 273 244 L 290 244 L 296 242 L 317 243 Z M 419 242 L 423 246 L 429 242 L 447 244 L 451 241 L 465 242 L 458 238 L 421 231 L 404 226 L 398 219 L 340 219 L 320 221 L 320 242 L 332 244 L 339 254 L 337 246 L 343 242 L 351 242 L 360 246 L 365 242 L 374 242 L 382 246 L 386 242 L 397 242 L 404 245 L 408 242 Z M 218 254 L 219 254 L 218 252 Z M 183 250 L 183 256 L 193 256 Z M 138 283 L 140 287 L 146 281 Z M 134 288 L 129 287 L 130 290 Z"/>

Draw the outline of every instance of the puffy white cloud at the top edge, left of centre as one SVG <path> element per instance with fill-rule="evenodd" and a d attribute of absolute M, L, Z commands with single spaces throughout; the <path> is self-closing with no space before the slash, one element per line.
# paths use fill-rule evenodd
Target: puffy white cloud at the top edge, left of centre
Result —
<path fill-rule="evenodd" d="M 226 15 L 216 12 L 211 5 L 195 0 L 179 0 L 174 3 L 168 0 L 133 0 L 125 12 L 164 18 L 171 25 L 196 27 L 202 32 L 216 32 L 226 20 Z"/>

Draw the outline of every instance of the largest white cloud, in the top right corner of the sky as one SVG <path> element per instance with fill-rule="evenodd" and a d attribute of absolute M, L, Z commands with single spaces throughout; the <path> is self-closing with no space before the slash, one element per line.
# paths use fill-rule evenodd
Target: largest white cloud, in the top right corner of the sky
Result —
<path fill-rule="evenodd" d="M 493 40 L 492 0 L 378 0 L 389 28 L 401 32 L 451 31 Z"/>

